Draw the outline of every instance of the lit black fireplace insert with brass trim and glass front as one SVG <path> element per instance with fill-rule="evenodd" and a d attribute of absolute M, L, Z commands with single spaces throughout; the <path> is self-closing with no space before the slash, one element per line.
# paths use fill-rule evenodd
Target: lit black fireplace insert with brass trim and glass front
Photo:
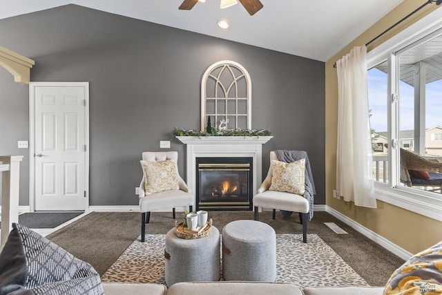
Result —
<path fill-rule="evenodd" d="M 253 158 L 200 157 L 195 164 L 197 210 L 252 209 Z"/>

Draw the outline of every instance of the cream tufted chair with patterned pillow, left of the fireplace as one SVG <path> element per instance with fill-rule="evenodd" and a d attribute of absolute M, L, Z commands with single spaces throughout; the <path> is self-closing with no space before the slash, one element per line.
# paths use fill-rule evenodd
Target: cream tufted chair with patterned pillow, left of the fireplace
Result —
<path fill-rule="evenodd" d="M 146 223 L 151 211 L 172 208 L 175 218 L 176 207 L 189 207 L 192 211 L 195 198 L 186 182 L 178 173 L 176 151 L 144 152 L 140 164 L 143 178 L 140 183 L 141 240 L 144 242 Z"/>

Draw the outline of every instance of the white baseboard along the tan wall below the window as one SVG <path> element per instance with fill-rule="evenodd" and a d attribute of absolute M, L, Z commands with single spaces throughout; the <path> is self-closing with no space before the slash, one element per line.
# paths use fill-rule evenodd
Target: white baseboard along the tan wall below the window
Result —
<path fill-rule="evenodd" d="M 332 216 L 338 218 L 340 221 L 344 222 L 346 225 L 349 225 L 356 231 L 360 232 L 370 240 L 373 240 L 377 244 L 381 245 L 388 251 L 392 252 L 393 254 L 401 257 L 403 260 L 410 259 L 413 254 L 411 254 L 409 251 L 406 251 L 405 249 L 399 247 L 398 245 L 394 244 L 393 242 L 390 242 L 390 240 L 387 240 L 383 236 L 379 236 L 371 229 L 367 229 L 367 227 L 364 227 L 363 225 L 359 224 L 358 222 L 355 222 L 354 220 L 348 218 L 347 216 L 343 215 L 342 213 L 336 211 L 335 209 L 326 206 L 327 213 L 332 214 Z"/>

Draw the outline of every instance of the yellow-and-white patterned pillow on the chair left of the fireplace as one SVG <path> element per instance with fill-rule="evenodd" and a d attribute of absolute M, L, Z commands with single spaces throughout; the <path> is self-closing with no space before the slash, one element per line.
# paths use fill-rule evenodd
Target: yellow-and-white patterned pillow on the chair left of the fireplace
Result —
<path fill-rule="evenodd" d="M 177 168 L 172 160 L 162 162 L 140 161 L 144 174 L 146 195 L 180 189 L 177 180 Z"/>

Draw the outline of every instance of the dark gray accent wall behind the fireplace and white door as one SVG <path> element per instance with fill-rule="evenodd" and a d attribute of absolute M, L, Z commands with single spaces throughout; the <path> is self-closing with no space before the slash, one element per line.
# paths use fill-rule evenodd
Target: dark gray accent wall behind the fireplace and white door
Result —
<path fill-rule="evenodd" d="M 288 34 L 289 35 L 289 34 Z M 200 129 L 200 83 L 229 59 L 252 79 L 252 127 L 269 129 L 269 152 L 309 154 L 316 204 L 325 204 L 324 63 L 155 23 L 68 5 L 0 20 L 1 45 L 34 59 L 35 82 L 90 82 L 90 205 L 135 205 L 143 151 L 175 127 Z M 0 68 L 0 154 L 24 155 L 20 205 L 29 204 L 28 86 Z M 176 140 L 186 179 L 185 146 Z"/>

